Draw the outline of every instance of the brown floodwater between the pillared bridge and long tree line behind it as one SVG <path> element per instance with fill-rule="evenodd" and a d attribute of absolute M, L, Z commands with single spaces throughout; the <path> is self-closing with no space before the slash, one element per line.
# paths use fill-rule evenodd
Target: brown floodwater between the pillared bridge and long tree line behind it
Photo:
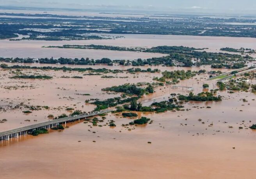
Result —
<path fill-rule="evenodd" d="M 22 64 L 22 63 L 8 63 L 11 65 L 28 65 L 28 66 L 57 66 L 62 67 L 63 65 L 57 64 Z M 128 69 L 131 66 L 82 66 L 82 65 L 66 65 L 66 67 L 92 67 L 94 69 L 107 68 L 107 69 Z M 149 66 L 148 66 L 149 67 Z M 141 69 L 147 69 L 148 67 L 140 67 Z M 188 70 L 198 71 L 199 69 L 205 68 L 210 70 L 210 66 L 205 67 L 192 67 L 192 68 L 182 68 L 182 67 L 162 67 L 153 66 L 152 69 L 160 69 L 161 71 L 173 71 L 173 70 Z M 227 69 L 223 69 L 226 71 Z M 106 95 L 106 92 L 101 91 L 105 87 L 111 87 L 114 85 L 121 85 L 124 83 L 138 83 L 138 82 L 154 82 L 154 77 L 161 77 L 161 73 L 118 73 L 118 74 L 106 74 L 107 76 L 115 77 L 128 77 L 128 78 L 101 78 L 103 75 L 89 76 L 83 75 L 86 73 L 80 73 L 73 71 L 72 73 L 63 71 L 43 71 L 39 69 L 23 69 L 21 72 L 27 75 L 48 75 L 53 76 L 52 80 L 31 80 L 31 79 L 10 79 L 9 77 L 15 76 L 12 73 L 16 70 L 0 70 L 1 81 L 0 81 L 0 105 L 4 106 L 7 111 L 0 111 L 2 119 L 10 119 L 8 122 L 2 123 L 0 125 L 1 130 L 11 129 L 25 124 L 30 124 L 33 122 L 42 122 L 48 120 L 47 116 L 53 114 L 58 116 L 62 113 L 67 113 L 66 108 L 73 107 L 76 110 L 82 110 L 89 112 L 95 108 L 93 105 L 85 105 L 85 100 L 87 99 L 108 99 L 111 97 L 120 96 L 120 94 Z M 82 79 L 76 78 L 61 78 L 62 76 L 82 76 Z M 200 80 L 200 79 L 197 79 Z M 184 82 L 184 86 L 196 85 L 197 80 L 188 80 Z M 195 83 L 195 84 L 194 84 Z M 200 89 L 199 89 L 200 90 Z M 169 91 L 168 91 L 169 92 Z M 90 94 L 90 96 L 83 96 L 79 94 Z M 156 97 L 162 96 L 162 92 L 157 92 Z M 167 99 L 168 96 L 166 96 Z M 145 97 L 145 103 L 148 98 Z M 152 101 L 152 100 L 151 100 Z M 32 114 L 24 115 L 22 112 L 26 111 L 26 108 L 20 110 L 13 110 L 14 106 L 20 105 L 28 106 L 49 106 L 50 110 L 37 110 Z M 84 108 L 82 107 L 84 105 Z M 150 104 L 149 104 L 150 105 Z M 10 110 L 13 115 L 10 115 Z M 34 121 L 36 118 L 37 121 Z M 2 120 L 1 119 L 1 120 Z M 25 120 L 30 120 L 27 122 Z"/>

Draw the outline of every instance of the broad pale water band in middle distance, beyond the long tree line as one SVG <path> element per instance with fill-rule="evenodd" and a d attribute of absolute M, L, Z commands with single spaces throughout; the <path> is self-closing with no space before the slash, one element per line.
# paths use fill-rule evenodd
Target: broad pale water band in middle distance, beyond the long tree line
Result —
<path fill-rule="evenodd" d="M 113 35 L 113 34 L 112 34 Z M 114 34 L 120 35 L 120 34 Z M 220 52 L 220 48 L 251 48 L 256 49 L 256 38 L 246 37 L 208 37 L 208 36 L 186 36 L 186 35 L 143 35 L 122 34 L 123 38 L 102 40 L 80 40 L 80 41 L 9 41 L 0 40 L 0 54 L 2 57 L 66 57 L 66 58 L 110 58 L 112 60 L 134 60 L 137 58 L 162 57 L 160 53 L 142 53 L 132 51 L 109 51 L 91 49 L 58 49 L 42 48 L 42 46 L 70 45 L 110 45 L 122 47 L 147 47 L 153 46 L 188 46 L 194 48 L 209 48 L 206 51 Z M 15 53 L 14 53 L 15 52 Z"/>

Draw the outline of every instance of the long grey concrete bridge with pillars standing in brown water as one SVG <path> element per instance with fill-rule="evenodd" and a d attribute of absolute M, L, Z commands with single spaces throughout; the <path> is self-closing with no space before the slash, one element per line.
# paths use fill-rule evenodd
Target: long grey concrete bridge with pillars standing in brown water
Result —
<path fill-rule="evenodd" d="M 28 126 L 9 129 L 7 131 L 0 132 L 0 140 L 10 140 L 11 137 L 19 138 L 19 135 L 28 135 L 28 133 L 32 132 L 33 130 L 42 129 L 42 128 L 49 129 L 59 124 L 65 124 L 65 127 L 66 127 L 67 122 L 77 121 L 77 120 L 80 121 L 80 119 L 85 119 L 87 117 L 93 117 L 93 116 L 108 113 L 108 112 L 111 112 L 111 110 L 102 110 L 98 112 L 92 112 L 89 114 L 74 115 L 71 117 L 53 119 L 50 121 L 38 122 L 36 124 L 31 124 Z"/>

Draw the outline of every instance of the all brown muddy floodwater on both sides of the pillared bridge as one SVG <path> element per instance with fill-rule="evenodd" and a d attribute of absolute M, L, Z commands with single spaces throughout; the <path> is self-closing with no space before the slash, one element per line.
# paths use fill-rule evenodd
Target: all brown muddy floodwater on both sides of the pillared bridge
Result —
<path fill-rule="evenodd" d="M 12 65 L 12 64 L 9 64 Z M 33 64 L 33 66 L 49 66 Z M 52 65 L 57 66 L 57 65 Z M 83 66 L 88 67 L 88 66 Z M 90 66 L 92 67 L 92 66 Z M 121 66 L 94 66 L 93 68 L 126 69 Z M 147 67 L 141 67 L 147 68 Z M 154 67 L 152 67 L 154 68 Z M 176 69 L 211 70 L 209 66 L 179 68 L 156 67 L 161 71 Z M 129 78 L 101 78 L 83 76 L 79 72 L 22 70 L 24 74 L 46 74 L 52 80 L 10 79 L 15 74 L 0 69 L 0 131 L 18 126 L 51 120 L 49 114 L 60 115 L 67 107 L 90 111 L 95 106 L 86 105 L 90 98 L 107 99 L 120 94 L 106 94 L 104 87 L 124 83 L 153 82 L 160 73 L 107 74 Z M 225 71 L 222 69 L 222 71 Z M 83 79 L 60 78 L 83 76 Z M 184 80 L 178 85 L 193 86 L 194 93 L 202 92 L 207 74 Z M 207 82 L 210 89 L 215 82 Z M 252 81 L 251 83 L 256 83 Z M 17 89 L 15 89 L 17 88 Z M 167 100 L 170 93 L 187 94 L 170 86 L 157 87 L 156 93 L 144 96 L 144 105 Z M 76 94 L 91 94 L 81 96 Z M 256 160 L 256 131 L 247 129 L 256 123 L 256 95 L 250 92 L 218 92 L 224 96 L 220 102 L 185 103 L 188 111 L 166 113 L 138 113 L 153 120 L 144 126 L 129 126 L 134 120 L 109 113 L 101 125 L 114 120 L 115 128 L 69 123 L 63 131 L 50 131 L 39 136 L 21 136 L 0 143 L 1 179 L 12 178 L 254 178 Z M 246 99 L 248 102 L 243 102 Z M 24 115 L 22 109 L 12 109 L 16 104 L 49 106 L 49 110 L 33 111 Z M 84 105 L 84 108 L 82 108 Z M 212 108 L 206 108 L 210 106 Z M 30 122 L 25 121 L 30 119 Z M 202 121 L 198 121 L 202 119 Z M 244 121 L 244 122 L 242 122 Z M 251 122 L 250 122 L 251 121 Z M 204 124 L 202 123 L 204 122 Z M 213 125 L 211 125 L 213 124 Z M 232 126 L 233 128 L 229 128 Z M 238 129 L 240 126 L 243 129 Z M 93 133 L 95 132 L 95 133 Z M 78 142 L 81 141 L 81 142 Z M 96 142 L 92 142 L 96 141 Z M 148 144 L 151 142 L 151 144 Z M 235 149 L 233 149 L 235 147 Z"/>

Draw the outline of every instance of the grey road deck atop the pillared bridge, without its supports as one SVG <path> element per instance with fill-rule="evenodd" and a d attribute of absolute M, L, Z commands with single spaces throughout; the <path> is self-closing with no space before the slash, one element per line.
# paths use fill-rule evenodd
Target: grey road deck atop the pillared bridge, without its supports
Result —
<path fill-rule="evenodd" d="M 108 113 L 108 112 L 111 112 L 111 110 L 103 110 L 102 112 L 94 112 L 94 113 L 85 114 L 85 115 L 77 115 L 76 117 L 71 116 L 71 117 L 64 117 L 64 118 L 60 118 L 60 119 L 53 119 L 51 121 L 38 122 L 36 124 L 31 124 L 31 125 L 28 125 L 28 126 L 22 126 L 22 127 L 19 127 L 19 128 L 14 128 L 14 129 L 9 129 L 9 130 L 6 130 L 6 131 L 2 131 L 2 132 L 0 132 L 0 137 L 15 134 L 15 133 L 20 133 L 20 132 L 23 132 L 23 131 L 33 130 L 33 129 L 36 129 L 36 128 L 42 128 L 44 126 L 49 126 L 49 125 L 52 125 L 52 124 L 58 124 L 58 123 L 62 123 L 62 122 L 84 119 L 86 117 L 93 117 L 95 115 L 104 114 L 104 113 Z"/>

